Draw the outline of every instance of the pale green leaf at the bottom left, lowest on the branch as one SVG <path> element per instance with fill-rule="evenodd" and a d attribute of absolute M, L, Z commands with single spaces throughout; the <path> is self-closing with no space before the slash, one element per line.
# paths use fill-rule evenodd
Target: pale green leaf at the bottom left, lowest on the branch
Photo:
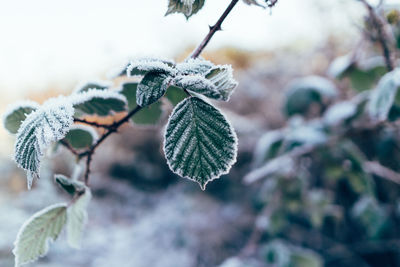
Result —
<path fill-rule="evenodd" d="M 49 242 L 59 236 L 67 220 L 67 204 L 49 206 L 24 223 L 14 242 L 15 267 L 47 254 Z"/>

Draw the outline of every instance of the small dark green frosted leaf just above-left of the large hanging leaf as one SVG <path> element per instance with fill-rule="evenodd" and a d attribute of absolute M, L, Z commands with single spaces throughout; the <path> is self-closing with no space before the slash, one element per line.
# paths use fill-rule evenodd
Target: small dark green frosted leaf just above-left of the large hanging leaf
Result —
<path fill-rule="evenodd" d="M 146 107 L 160 99 L 167 91 L 171 78 L 159 72 L 147 73 L 137 86 L 136 103 Z"/>

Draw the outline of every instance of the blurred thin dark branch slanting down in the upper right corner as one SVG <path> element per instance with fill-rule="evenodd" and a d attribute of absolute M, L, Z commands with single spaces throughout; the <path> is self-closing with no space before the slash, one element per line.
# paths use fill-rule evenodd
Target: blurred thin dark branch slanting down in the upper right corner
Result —
<path fill-rule="evenodd" d="M 366 0 L 360 0 L 365 7 L 368 9 L 370 18 L 372 20 L 372 24 L 376 29 L 376 32 L 378 34 L 378 42 L 380 43 L 382 47 L 382 53 L 383 57 L 385 58 L 385 63 L 386 63 L 386 68 L 388 71 L 392 71 L 394 69 L 394 62 L 393 62 L 393 57 L 392 53 L 390 50 L 390 45 L 388 42 L 388 35 L 385 30 L 385 22 L 384 20 L 376 13 L 376 10 L 366 1 Z"/>

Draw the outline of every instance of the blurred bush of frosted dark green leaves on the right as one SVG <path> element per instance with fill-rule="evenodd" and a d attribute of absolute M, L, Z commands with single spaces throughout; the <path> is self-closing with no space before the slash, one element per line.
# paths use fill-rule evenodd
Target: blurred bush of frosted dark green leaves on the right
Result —
<path fill-rule="evenodd" d="M 283 238 L 319 254 L 308 254 L 312 263 L 293 265 L 292 245 L 262 242 L 260 255 L 269 248 L 267 262 L 274 266 L 322 266 L 321 258 L 340 257 L 364 264 L 375 251 L 352 244 L 399 238 L 400 194 L 393 183 L 400 183 L 400 139 L 390 122 L 399 118 L 400 68 L 388 71 L 382 57 L 368 52 L 368 59 L 338 58 L 327 72 L 351 88 L 351 99 L 340 100 L 329 78 L 297 79 L 283 104 L 287 126 L 258 142 L 253 170 L 244 179 L 261 184 L 255 206 L 262 240 Z M 338 246 L 339 257 L 331 253 Z"/>

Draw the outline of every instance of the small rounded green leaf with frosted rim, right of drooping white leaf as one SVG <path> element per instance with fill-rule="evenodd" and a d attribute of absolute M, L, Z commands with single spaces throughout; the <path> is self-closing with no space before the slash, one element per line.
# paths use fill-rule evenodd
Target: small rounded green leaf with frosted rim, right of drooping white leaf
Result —
<path fill-rule="evenodd" d="M 63 141 L 75 149 L 89 148 L 98 138 L 97 132 L 86 125 L 74 125 Z"/>

